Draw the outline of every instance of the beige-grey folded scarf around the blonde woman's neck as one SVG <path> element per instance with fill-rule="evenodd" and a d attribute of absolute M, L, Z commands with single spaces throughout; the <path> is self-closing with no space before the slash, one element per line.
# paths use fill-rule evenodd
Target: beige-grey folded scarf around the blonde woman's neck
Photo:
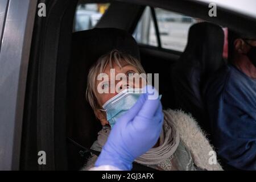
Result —
<path fill-rule="evenodd" d="M 159 146 L 151 148 L 145 154 L 139 156 L 139 158 L 137 158 L 135 162 L 146 165 L 159 164 L 164 160 L 170 158 L 176 151 L 177 146 L 180 142 L 179 133 L 174 126 L 174 122 L 172 122 L 170 114 L 168 114 L 167 111 L 164 110 L 163 113 L 164 124 L 162 133 L 160 134 L 159 138 Z M 106 143 L 109 133 L 110 127 L 104 127 L 104 129 L 102 129 L 98 133 L 97 142 L 98 144 L 100 144 L 101 147 L 103 147 Z"/>

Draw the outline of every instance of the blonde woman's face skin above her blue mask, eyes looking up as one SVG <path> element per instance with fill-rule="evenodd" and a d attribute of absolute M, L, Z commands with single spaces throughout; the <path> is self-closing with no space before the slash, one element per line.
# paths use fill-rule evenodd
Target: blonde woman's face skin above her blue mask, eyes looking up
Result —
<path fill-rule="evenodd" d="M 115 63 L 113 63 L 112 66 L 113 67 L 110 68 L 110 65 L 108 64 L 106 66 L 105 70 L 104 70 L 104 73 L 106 75 L 108 75 L 109 80 L 108 81 L 102 81 L 102 80 L 97 81 L 97 86 L 100 86 L 100 88 L 102 88 L 102 89 L 109 89 L 108 93 L 99 93 L 98 94 L 98 102 L 99 102 L 101 107 L 105 104 L 106 101 L 108 101 L 108 100 L 110 100 L 110 98 L 116 96 L 122 90 L 127 89 L 129 87 L 131 87 L 131 88 L 142 88 L 142 86 L 143 86 L 141 81 L 139 81 L 139 83 L 129 82 L 129 77 L 133 76 L 134 73 L 139 74 L 138 69 L 135 68 L 133 65 L 129 65 L 129 64 L 121 62 L 122 68 L 120 68 Z M 119 80 L 119 79 L 115 79 L 115 77 L 113 77 L 113 76 L 110 77 L 110 73 L 111 73 L 110 69 L 112 71 L 112 75 L 117 76 L 118 73 L 123 73 L 124 75 L 126 75 L 127 79 L 126 80 L 122 80 L 122 79 Z M 113 74 L 113 69 L 114 69 L 115 74 Z M 110 83 L 114 83 L 114 85 L 110 84 Z M 113 86 L 114 86 L 114 92 L 110 93 L 110 88 L 113 87 Z M 116 88 L 118 88 L 118 90 Z M 95 114 L 96 114 L 96 117 L 98 119 L 100 119 L 101 124 L 103 126 L 109 124 L 109 122 L 106 120 L 106 113 L 105 112 L 102 112 L 99 109 L 95 112 Z"/>

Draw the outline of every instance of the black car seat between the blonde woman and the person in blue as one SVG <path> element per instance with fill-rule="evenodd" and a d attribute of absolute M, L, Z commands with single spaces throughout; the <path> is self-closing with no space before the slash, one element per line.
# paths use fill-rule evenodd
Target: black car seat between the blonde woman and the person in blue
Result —
<path fill-rule="evenodd" d="M 172 71 L 172 84 L 177 109 L 191 113 L 209 132 L 203 100 L 208 78 L 225 62 L 222 59 L 224 32 L 220 26 L 203 22 L 191 26 L 184 53 Z"/>

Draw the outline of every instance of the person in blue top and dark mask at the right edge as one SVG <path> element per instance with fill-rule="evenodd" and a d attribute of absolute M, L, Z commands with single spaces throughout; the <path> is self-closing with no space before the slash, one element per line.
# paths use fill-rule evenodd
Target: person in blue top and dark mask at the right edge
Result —
<path fill-rule="evenodd" d="M 229 44 L 205 89 L 213 144 L 229 166 L 256 170 L 256 39 L 230 31 Z"/>

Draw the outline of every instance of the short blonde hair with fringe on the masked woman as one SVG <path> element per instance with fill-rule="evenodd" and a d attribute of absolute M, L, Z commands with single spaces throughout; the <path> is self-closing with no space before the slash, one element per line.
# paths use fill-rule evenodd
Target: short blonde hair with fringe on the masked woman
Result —
<path fill-rule="evenodd" d="M 98 102 L 98 92 L 97 92 L 97 76 L 100 73 L 103 73 L 107 65 L 109 64 L 110 69 L 113 68 L 113 63 L 117 64 L 122 68 L 121 62 L 132 65 L 138 69 L 139 74 L 146 73 L 141 65 L 141 62 L 135 57 L 113 50 L 103 56 L 101 56 L 95 64 L 89 70 L 87 78 L 87 88 L 86 88 L 86 100 L 89 102 L 92 109 L 95 111 L 101 109 L 101 106 Z"/>

